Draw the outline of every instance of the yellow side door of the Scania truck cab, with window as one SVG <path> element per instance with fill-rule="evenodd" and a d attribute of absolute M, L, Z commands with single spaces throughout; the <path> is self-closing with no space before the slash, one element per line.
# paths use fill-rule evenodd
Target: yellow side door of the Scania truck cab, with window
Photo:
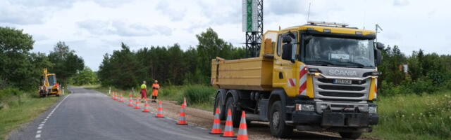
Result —
<path fill-rule="evenodd" d="M 283 37 L 290 34 L 290 43 L 284 43 Z M 283 87 L 287 94 L 296 94 L 297 91 L 297 64 L 292 62 L 292 58 L 283 57 L 286 53 L 294 55 L 292 57 L 297 59 L 298 46 L 297 32 L 288 32 L 278 36 L 276 54 L 274 55 L 274 70 L 273 70 L 273 86 Z M 292 47 L 295 46 L 295 47 Z M 292 49 L 294 48 L 294 49 Z M 284 50 L 285 49 L 285 50 Z"/>

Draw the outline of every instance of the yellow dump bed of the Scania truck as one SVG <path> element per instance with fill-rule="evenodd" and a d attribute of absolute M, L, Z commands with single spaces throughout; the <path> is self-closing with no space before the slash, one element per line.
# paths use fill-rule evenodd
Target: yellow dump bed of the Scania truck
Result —
<path fill-rule="evenodd" d="M 211 59 L 211 85 L 222 89 L 273 90 L 273 59 Z"/>

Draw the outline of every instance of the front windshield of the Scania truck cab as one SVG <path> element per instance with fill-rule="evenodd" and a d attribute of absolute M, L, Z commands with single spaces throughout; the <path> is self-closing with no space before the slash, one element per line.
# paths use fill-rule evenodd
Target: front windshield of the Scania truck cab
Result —
<path fill-rule="evenodd" d="M 372 39 L 306 36 L 303 61 L 321 66 L 374 67 Z"/>

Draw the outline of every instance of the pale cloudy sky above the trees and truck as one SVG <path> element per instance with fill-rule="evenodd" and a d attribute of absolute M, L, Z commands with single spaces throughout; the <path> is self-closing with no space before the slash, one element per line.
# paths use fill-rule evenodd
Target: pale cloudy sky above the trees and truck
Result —
<path fill-rule="evenodd" d="M 264 0 L 264 30 L 304 25 L 307 17 L 359 29 L 378 24 L 385 45 L 399 45 L 407 55 L 419 49 L 444 55 L 451 54 L 449 6 L 443 0 Z M 211 27 L 242 46 L 241 8 L 241 0 L 0 0 L 0 27 L 32 35 L 32 52 L 48 54 L 64 41 L 97 71 L 121 42 L 132 50 L 174 43 L 186 50 Z"/>

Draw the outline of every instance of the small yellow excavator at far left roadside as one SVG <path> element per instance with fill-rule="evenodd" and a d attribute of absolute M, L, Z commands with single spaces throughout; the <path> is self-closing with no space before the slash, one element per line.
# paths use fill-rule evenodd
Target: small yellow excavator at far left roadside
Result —
<path fill-rule="evenodd" d="M 44 69 L 42 72 L 42 85 L 39 86 L 39 97 L 47 97 L 49 95 L 56 95 L 59 97 L 61 94 L 61 87 L 56 82 L 56 74 L 48 73 L 47 69 Z"/>

